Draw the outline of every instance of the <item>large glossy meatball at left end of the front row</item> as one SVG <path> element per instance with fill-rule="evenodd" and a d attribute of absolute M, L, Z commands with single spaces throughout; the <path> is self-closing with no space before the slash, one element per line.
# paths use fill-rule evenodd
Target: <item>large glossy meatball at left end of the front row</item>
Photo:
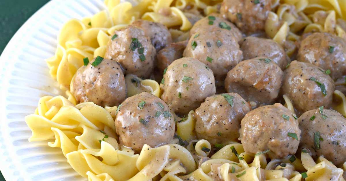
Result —
<path fill-rule="evenodd" d="M 151 147 L 173 140 L 175 122 L 165 102 L 147 92 L 127 98 L 119 105 L 115 126 L 120 144 L 136 153 L 144 144 Z"/>

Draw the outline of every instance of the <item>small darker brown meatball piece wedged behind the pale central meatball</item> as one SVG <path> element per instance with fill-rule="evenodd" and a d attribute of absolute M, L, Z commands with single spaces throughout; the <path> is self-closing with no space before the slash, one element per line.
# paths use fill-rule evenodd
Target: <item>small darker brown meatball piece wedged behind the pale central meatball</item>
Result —
<path fill-rule="evenodd" d="M 174 60 L 182 58 L 187 44 L 188 40 L 180 41 L 160 50 L 156 55 L 157 68 L 163 72 Z"/>

